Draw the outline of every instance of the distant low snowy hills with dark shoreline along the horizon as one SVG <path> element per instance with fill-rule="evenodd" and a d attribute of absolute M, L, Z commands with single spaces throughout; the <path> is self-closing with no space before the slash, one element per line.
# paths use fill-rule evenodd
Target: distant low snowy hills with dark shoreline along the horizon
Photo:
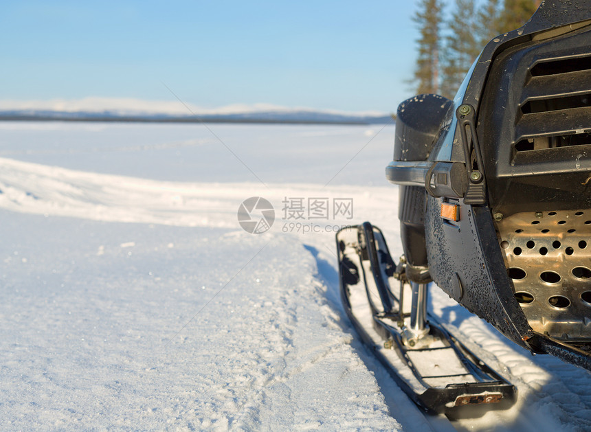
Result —
<path fill-rule="evenodd" d="M 68 121 L 68 122 L 159 122 L 159 123 L 272 123 L 272 124 L 384 124 L 392 117 L 384 113 L 343 113 L 313 109 L 287 109 L 275 106 L 229 106 L 218 110 L 197 111 L 186 109 L 159 111 L 155 107 L 142 110 L 96 109 L 89 104 L 58 104 L 37 109 L 0 103 L 0 121 Z M 18 104 L 17 104 L 18 105 Z M 24 103 L 21 103 L 24 105 Z M 47 104 L 46 104 L 47 105 Z M 60 109 L 61 108 L 61 109 Z M 234 112 L 232 112 L 234 111 Z"/>

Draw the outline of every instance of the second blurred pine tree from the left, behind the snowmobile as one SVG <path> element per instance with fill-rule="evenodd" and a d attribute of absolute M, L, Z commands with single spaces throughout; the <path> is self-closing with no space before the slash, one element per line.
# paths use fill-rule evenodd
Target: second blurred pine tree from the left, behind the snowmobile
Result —
<path fill-rule="evenodd" d="M 480 54 L 480 27 L 474 0 L 456 0 L 454 13 L 447 22 L 449 34 L 441 58 L 441 94 L 453 98 L 468 69 Z"/>

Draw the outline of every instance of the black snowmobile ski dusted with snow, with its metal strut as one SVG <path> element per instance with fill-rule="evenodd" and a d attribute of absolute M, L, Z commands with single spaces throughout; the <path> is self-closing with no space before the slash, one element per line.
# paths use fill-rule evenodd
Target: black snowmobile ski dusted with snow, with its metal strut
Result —
<path fill-rule="evenodd" d="M 368 222 L 337 235 L 346 313 L 362 341 L 419 407 L 450 418 L 513 405 L 517 390 L 427 312 L 429 284 L 408 282 L 377 227 Z M 399 284 L 394 293 L 391 286 Z M 407 298 L 411 301 L 407 302 Z"/>

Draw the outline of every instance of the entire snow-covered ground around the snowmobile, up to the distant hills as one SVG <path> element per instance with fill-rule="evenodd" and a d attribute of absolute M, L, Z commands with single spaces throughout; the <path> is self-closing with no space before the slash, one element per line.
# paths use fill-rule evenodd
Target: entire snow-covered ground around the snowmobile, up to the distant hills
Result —
<path fill-rule="evenodd" d="M 0 123 L 0 429 L 590 430 L 588 372 L 437 288 L 513 409 L 425 417 L 355 339 L 333 231 L 372 220 L 400 252 L 381 128 Z"/>

